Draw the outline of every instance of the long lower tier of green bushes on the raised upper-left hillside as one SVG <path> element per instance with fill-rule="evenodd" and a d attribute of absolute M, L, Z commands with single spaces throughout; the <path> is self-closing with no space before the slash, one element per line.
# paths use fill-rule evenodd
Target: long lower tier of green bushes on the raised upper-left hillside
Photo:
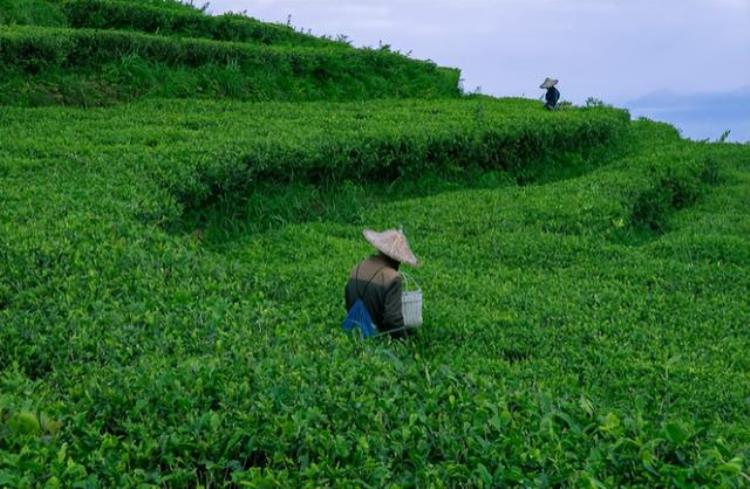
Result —
<path fill-rule="evenodd" d="M 84 29 L 3 30 L 0 71 L 0 102 L 32 106 L 101 105 L 143 96 L 361 100 L 458 94 L 457 71 L 382 50 L 267 47 Z"/>

